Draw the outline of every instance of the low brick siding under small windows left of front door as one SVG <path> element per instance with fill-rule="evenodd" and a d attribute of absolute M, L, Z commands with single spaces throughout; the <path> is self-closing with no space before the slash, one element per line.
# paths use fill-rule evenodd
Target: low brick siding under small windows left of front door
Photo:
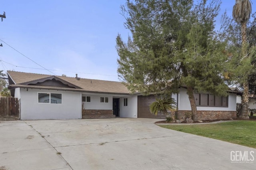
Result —
<path fill-rule="evenodd" d="M 113 110 L 83 109 L 82 119 L 90 119 L 90 118 L 116 118 L 116 115 L 113 115 Z"/>

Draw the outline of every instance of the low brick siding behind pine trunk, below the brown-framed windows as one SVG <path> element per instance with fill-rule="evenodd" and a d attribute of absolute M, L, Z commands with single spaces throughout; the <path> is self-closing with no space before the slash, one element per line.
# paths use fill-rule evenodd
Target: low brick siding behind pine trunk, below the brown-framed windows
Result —
<path fill-rule="evenodd" d="M 176 115 L 178 119 L 185 119 L 185 113 L 191 113 L 191 111 L 177 111 Z M 175 112 L 171 112 L 172 116 L 175 116 Z M 216 119 L 236 119 L 236 111 L 197 111 L 197 120 L 216 120 Z"/>

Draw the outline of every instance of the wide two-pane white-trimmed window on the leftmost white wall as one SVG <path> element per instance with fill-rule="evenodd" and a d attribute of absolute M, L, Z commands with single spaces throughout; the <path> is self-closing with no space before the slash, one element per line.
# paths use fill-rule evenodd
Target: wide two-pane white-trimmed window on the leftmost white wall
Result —
<path fill-rule="evenodd" d="M 61 93 L 38 93 L 38 103 L 61 104 Z"/>

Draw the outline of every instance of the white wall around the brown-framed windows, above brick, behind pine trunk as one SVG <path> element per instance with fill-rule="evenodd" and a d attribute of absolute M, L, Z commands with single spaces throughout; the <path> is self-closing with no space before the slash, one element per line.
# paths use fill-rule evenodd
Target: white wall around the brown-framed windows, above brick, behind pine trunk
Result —
<path fill-rule="evenodd" d="M 196 107 L 198 111 L 236 111 L 236 93 L 228 94 L 228 107 Z M 187 89 L 180 88 L 178 95 L 178 109 L 191 110 L 190 101 L 188 99 Z"/>

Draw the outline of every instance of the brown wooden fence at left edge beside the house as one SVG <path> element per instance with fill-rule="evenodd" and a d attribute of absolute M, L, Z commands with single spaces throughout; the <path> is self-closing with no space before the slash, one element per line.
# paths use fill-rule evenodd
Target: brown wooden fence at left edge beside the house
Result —
<path fill-rule="evenodd" d="M 18 98 L 0 98 L 0 121 L 15 121 L 20 119 L 20 102 Z"/>

